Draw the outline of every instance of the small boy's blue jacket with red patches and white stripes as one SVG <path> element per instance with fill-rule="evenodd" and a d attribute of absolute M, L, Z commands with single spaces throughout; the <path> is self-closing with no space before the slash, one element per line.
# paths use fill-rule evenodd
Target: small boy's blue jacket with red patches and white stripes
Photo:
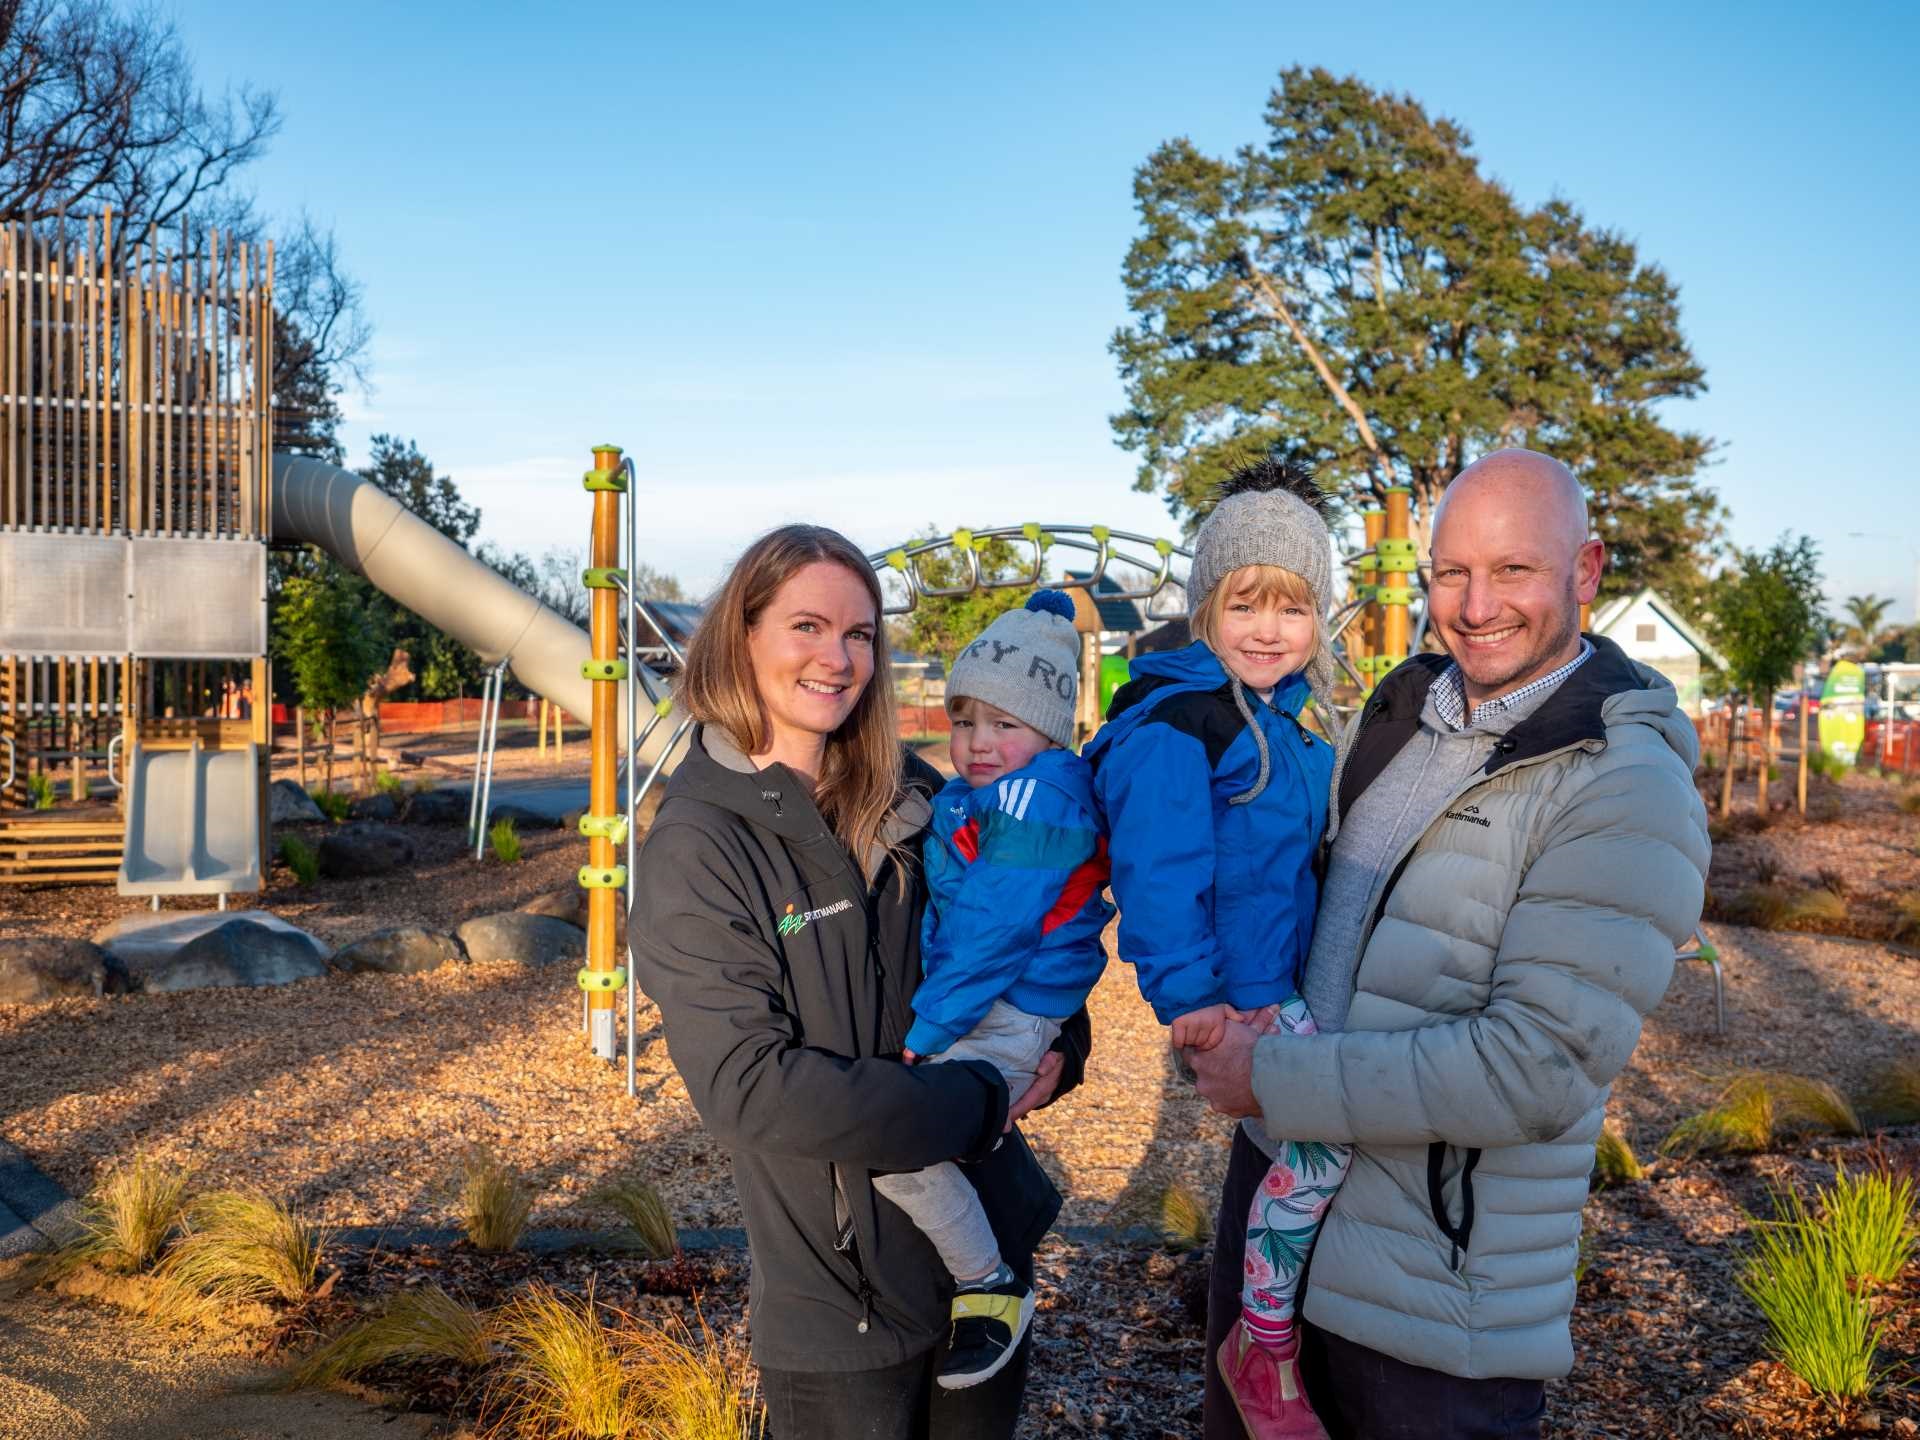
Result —
<path fill-rule="evenodd" d="M 1100 931 L 1114 906 L 1092 772 L 1073 751 L 1041 751 L 973 789 L 933 797 L 927 889 L 906 1048 L 935 1054 L 973 1029 L 995 1000 L 1060 1020 L 1087 1002 L 1106 968 Z"/>

